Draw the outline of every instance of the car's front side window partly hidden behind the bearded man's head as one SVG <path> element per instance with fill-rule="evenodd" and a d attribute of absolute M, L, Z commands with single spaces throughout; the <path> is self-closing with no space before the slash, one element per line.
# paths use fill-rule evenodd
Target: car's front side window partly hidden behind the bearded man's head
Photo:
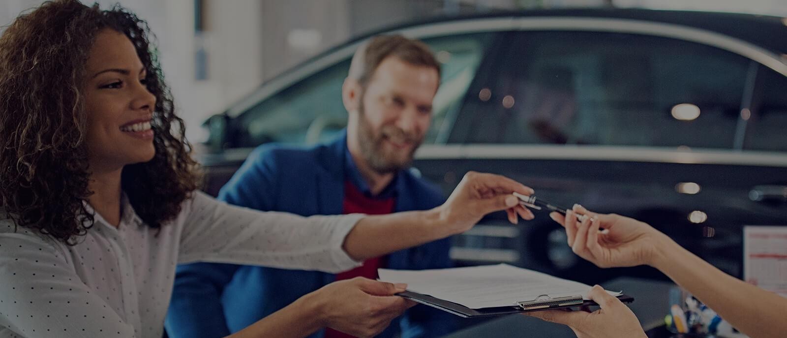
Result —
<path fill-rule="evenodd" d="M 443 122 L 458 109 L 475 76 L 492 33 L 440 36 L 423 41 L 441 62 L 442 84 L 434 97 L 433 121 L 425 143 L 434 143 Z M 264 98 L 235 121 L 237 147 L 262 143 L 316 143 L 347 125 L 342 83 L 349 58 Z"/>

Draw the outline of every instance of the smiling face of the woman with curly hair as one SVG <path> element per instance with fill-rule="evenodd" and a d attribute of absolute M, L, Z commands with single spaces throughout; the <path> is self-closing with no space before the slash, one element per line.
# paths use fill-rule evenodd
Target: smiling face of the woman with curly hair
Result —
<path fill-rule="evenodd" d="M 96 35 L 83 87 L 91 170 L 120 169 L 156 154 L 150 126 L 156 96 L 146 72 L 126 35 L 112 29 Z"/>

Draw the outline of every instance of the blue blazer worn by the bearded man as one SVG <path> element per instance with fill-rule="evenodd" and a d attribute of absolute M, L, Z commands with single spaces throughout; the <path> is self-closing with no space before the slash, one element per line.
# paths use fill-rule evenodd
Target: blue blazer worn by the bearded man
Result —
<path fill-rule="evenodd" d="M 342 214 L 346 142 L 342 133 L 334 142 L 312 148 L 257 147 L 221 189 L 219 199 L 302 216 Z M 408 170 L 398 174 L 395 184 L 395 211 L 427 210 L 444 201 L 437 186 Z M 449 239 L 444 239 L 397 251 L 387 256 L 387 267 L 450 267 L 449 247 Z M 179 266 L 165 327 L 172 338 L 227 336 L 334 280 L 334 274 L 316 271 L 202 262 Z M 455 325 L 452 315 L 419 305 L 379 336 L 442 336 Z M 311 337 L 322 336 L 320 330 Z"/>

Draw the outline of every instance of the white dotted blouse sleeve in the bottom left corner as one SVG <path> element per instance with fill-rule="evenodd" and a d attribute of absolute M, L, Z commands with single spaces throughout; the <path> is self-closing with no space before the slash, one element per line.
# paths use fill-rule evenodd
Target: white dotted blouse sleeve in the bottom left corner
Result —
<path fill-rule="evenodd" d="M 103 299 L 83 284 L 65 255 L 39 236 L 0 233 L 0 333 L 32 337 L 133 337 Z"/>

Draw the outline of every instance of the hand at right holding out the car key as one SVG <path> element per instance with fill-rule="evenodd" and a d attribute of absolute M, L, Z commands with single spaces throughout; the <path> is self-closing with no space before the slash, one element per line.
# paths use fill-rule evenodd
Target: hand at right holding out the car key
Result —
<path fill-rule="evenodd" d="M 577 215 L 586 215 L 577 221 Z M 652 265 L 667 236 L 650 225 L 617 214 L 595 214 L 578 204 L 565 216 L 549 214 L 566 228 L 568 245 L 600 268 Z M 604 228 L 604 231 L 600 231 Z"/>

